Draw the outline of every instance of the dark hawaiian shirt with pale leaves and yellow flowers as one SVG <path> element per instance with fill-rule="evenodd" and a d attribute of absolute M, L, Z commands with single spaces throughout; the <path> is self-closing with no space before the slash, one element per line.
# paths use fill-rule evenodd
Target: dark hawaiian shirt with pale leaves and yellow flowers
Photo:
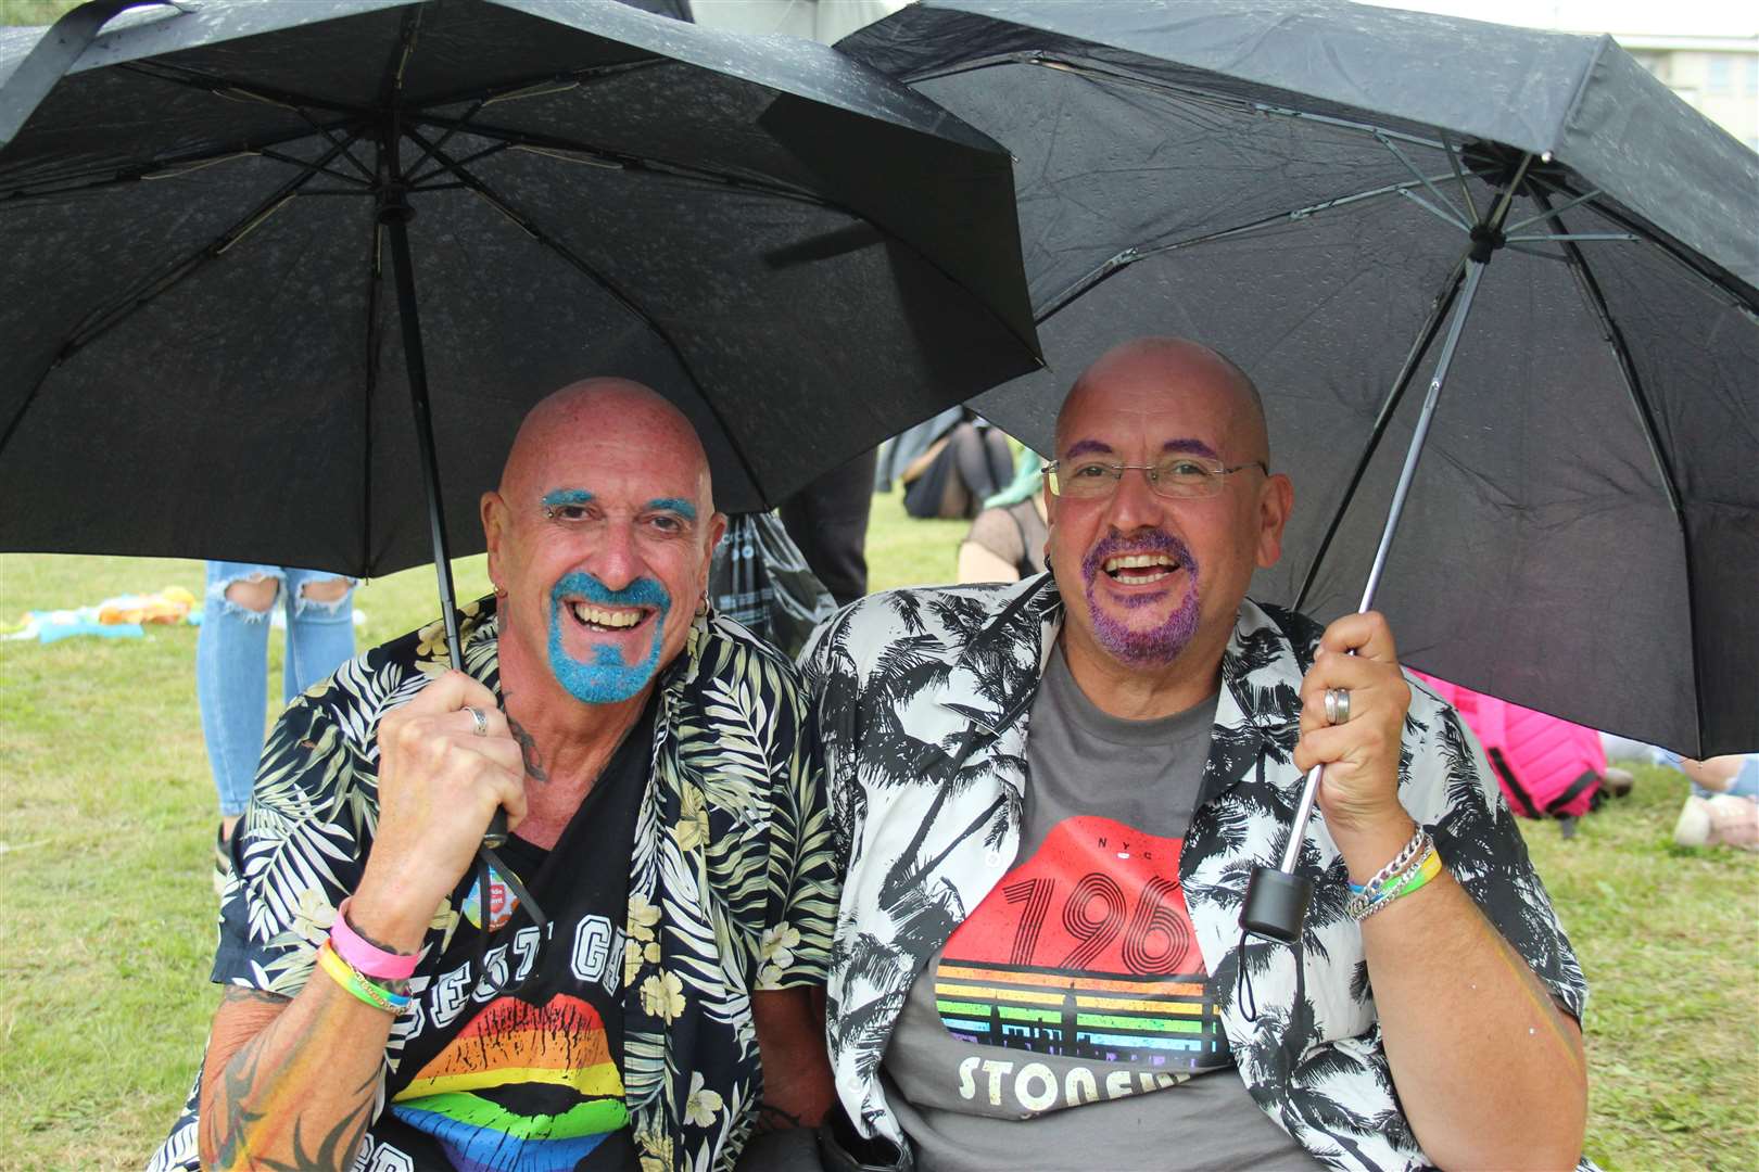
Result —
<path fill-rule="evenodd" d="M 464 669 L 500 696 L 493 601 L 466 608 Z M 376 821 L 378 720 L 447 669 L 440 624 L 345 664 L 264 749 L 227 886 L 215 980 L 294 996 L 354 889 Z M 621 958 L 621 1075 L 644 1172 L 734 1167 L 762 1096 L 751 993 L 825 980 L 839 866 L 799 675 L 744 627 L 698 617 L 663 673 L 635 815 Z M 442 905 L 427 956 L 475 905 Z M 568 963 L 568 947 L 549 949 Z M 551 961 L 547 961 L 551 963 Z M 412 993 L 431 973 L 417 970 Z M 385 1051 L 396 1068 L 412 1030 Z M 195 1167 L 195 1093 L 153 1168 Z M 364 1160 L 366 1153 L 362 1153 Z M 359 1161 L 357 1161 L 359 1163 Z"/>

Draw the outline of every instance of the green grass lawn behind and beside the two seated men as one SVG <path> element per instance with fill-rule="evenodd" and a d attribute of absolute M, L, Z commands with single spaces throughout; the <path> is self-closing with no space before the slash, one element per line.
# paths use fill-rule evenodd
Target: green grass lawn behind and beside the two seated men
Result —
<path fill-rule="evenodd" d="M 946 580 L 962 531 L 878 497 L 874 589 Z M 461 597 L 487 590 L 480 557 L 457 575 Z M 165 585 L 199 596 L 201 562 L 0 555 L 0 622 Z M 433 573 L 357 606 L 361 647 L 427 622 Z M 139 1167 L 216 1002 L 195 631 L 148 631 L 0 643 L 0 1168 Z M 1641 770 L 1571 842 L 1527 824 L 1594 986 L 1588 1153 L 1606 1168 L 1759 1167 L 1759 857 L 1675 849 L 1683 789 Z"/>

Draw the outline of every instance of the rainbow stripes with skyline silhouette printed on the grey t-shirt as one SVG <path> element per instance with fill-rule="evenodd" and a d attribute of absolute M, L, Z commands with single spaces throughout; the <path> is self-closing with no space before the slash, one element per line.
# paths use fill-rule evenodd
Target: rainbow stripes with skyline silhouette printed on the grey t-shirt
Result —
<path fill-rule="evenodd" d="M 1228 1053 L 1201 973 L 1143 979 L 943 959 L 934 1003 L 948 1033 L 978 1045 L 1170 1072 L 1208 1070 Z"/>

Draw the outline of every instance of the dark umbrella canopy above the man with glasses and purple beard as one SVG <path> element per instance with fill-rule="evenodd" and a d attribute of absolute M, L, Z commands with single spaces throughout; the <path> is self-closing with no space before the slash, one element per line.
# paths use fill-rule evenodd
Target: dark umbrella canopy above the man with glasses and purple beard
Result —
<path fill-rule="evenodd" d="M 1402 657 L 1694 754 L 1759 745 L 1759 156 L 1611 39 L 927 0 L 839 47 L 1017 156 L 1050 369 L 980 411 L 1048 450 L 1110 344 L 1221 348 L 1296 488 L 1254 594 L 1332 619 L 1441 367 L 1376 601 Z"/>

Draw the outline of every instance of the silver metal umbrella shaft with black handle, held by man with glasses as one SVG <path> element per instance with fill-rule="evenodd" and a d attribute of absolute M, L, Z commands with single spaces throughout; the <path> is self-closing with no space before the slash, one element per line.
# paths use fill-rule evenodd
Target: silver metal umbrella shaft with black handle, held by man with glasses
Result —
<path fill-rule="evenodd" d="M 1393 503 L 1386 511 L 1386 527 L 1381 531 L 1381 545 L 1374 553 L 1374 568 L 1369 571 L 1369 583 L 1361 590 L 1361 604 L 1356 606 L 1358 615 L 1374 606 L 1374 592 L 1379 589 L 1381 575 L 1386 571 L 1386 557 L 1393 548 L 1398 517 L 1404 513 L 1405 497 L 1411 494 L 1418 459 L 1423 455 L 1423 441 L 1428 436 L 1430 420 L 1435 416 L 1435 402 L 1441 399 L 1442 383 L 1448 381 L 1448 367 L 1453 365 L 1453 351 L 1460 343 L 1465 315 L 1472 311 L 1472 297 L 1478 293 L 1478 283 L 1485 276 L 1485 264 L 1486 260 L 1479 260 L 1478 257 L 1465 262 L 1463 288 L 1455 304 L 1453 320 L 1448 323 L 1448 337 L 1435 362 L 1435 374 L 1430 378 L 1428 394 L 1423 397 L 1423 411 L 1418 415 L 1416 430 L 1411 434 L 1404 467 L 1398 471 L 1398 485 L 1393 488 Z M 1307 822 L 1312 819 L 1321 780 L 1325 780 L 1325 766 L 1316 764 L 1307 771 L 1307 780 L 1302 785 L 1302 799 L 1295 807 L 1295 819 L 1289 824 L 1289 842 L 1282 850 L 1282 863 L 1277 870 L 1266 866 L 1252 870 L 1252 879 L 1245 889 L 1245 905 L 1240 908 L 1240 926 L 1251 933 L 1282 940 L 1284 944 L 1295 944 L 1302 935 L 1302 919 L 1307 914 L 1307 901 L 1312 898 L 1312 880 L 1296 875 L 1295 865 L 1307 838 Z"/>

